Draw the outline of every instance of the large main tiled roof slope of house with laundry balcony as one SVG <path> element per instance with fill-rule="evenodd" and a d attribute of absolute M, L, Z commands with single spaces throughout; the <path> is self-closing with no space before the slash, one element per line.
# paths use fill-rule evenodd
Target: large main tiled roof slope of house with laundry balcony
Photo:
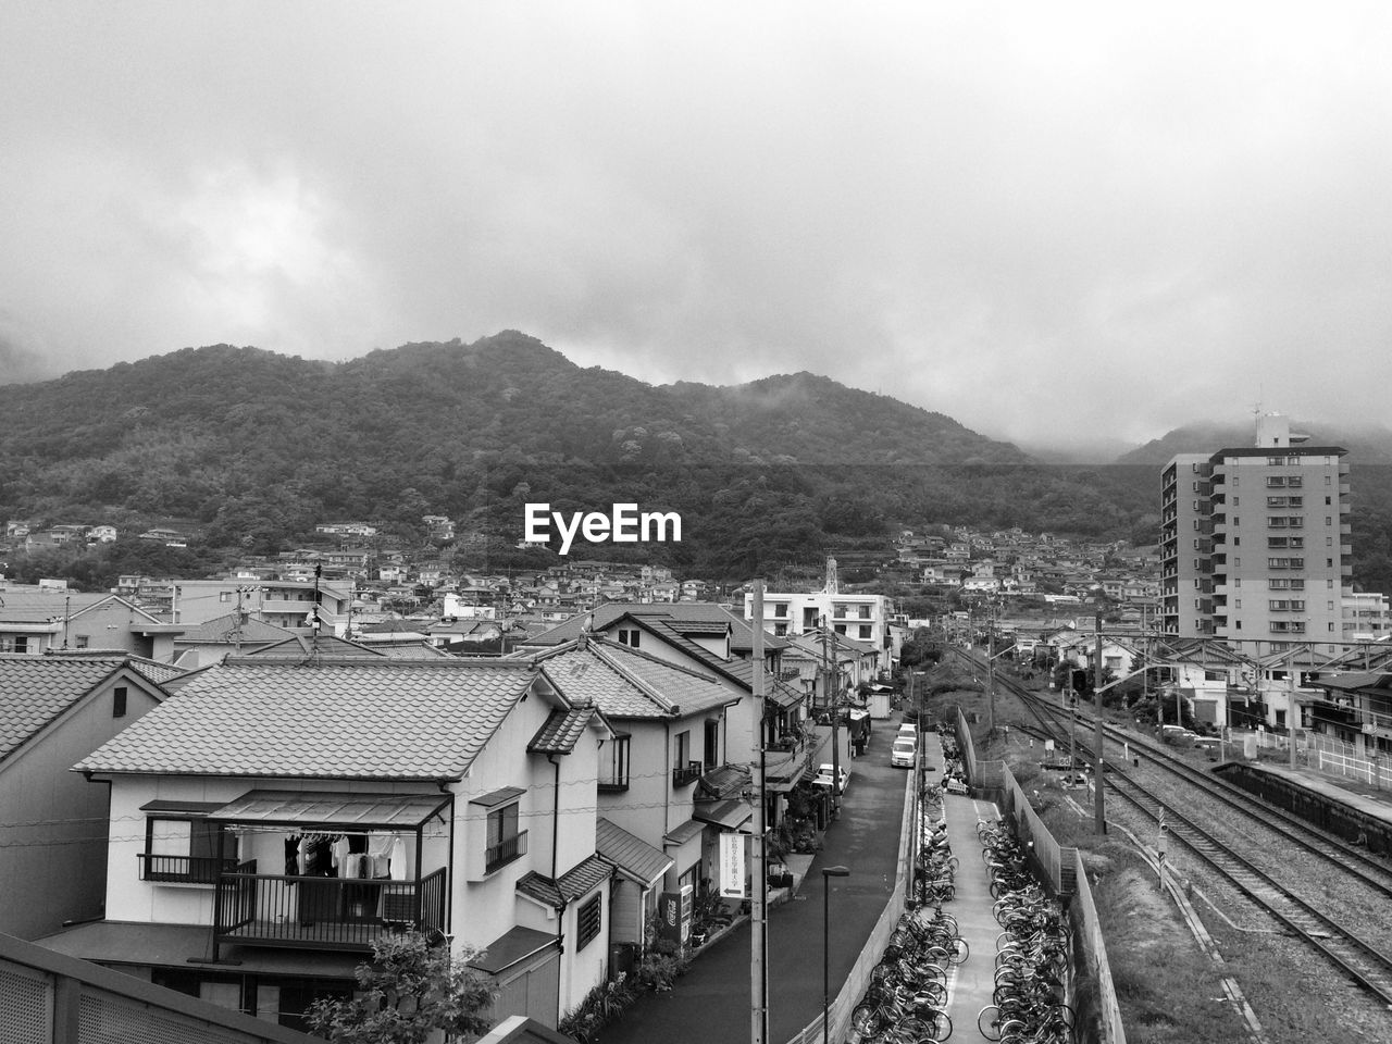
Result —
<path fill-rule="evenodd" d="M 451 780 L 469 767 L 535 677 L 521 660 L 228 657 L 77 767 Z"/>

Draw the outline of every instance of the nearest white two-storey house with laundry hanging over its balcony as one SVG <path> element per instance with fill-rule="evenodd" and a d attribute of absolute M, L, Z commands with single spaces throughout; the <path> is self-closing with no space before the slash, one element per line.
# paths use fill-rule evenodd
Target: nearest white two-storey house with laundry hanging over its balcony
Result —
<path fill-rule="evenodd" d="M 363 651 L 227 657 L 84 757 L 106 919 L 42 944 L 299 1029 L 413 926 L 554 1026 L 607 972 L 612 731 L 523 660 Z"/>

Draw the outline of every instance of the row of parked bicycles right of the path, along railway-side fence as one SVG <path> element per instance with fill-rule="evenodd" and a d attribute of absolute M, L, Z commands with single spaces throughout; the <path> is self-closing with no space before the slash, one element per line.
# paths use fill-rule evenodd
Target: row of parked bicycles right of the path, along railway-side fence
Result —
<path fill-rule="evenodd" d="M 1075 1012 L 1065 1004 L 1072 933 L 1058 902 L 1030 873 L 1004 821 L 977 823 L 981 857 L 991 878 L 995 940 L 994 1004 L 977 1029 L 1004 1044 L 1073 1044 Z"/>

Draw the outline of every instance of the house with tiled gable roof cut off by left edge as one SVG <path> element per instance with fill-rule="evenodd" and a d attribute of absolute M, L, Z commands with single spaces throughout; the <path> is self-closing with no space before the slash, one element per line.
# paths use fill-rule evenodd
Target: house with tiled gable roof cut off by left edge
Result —
<path fill-rule="evenodd" d="M 120 654 L 0 654 L 0 931 L 33 938 L 100 915 L 106 793 L 68 770 L 153 710 L 177 674 Z"/>

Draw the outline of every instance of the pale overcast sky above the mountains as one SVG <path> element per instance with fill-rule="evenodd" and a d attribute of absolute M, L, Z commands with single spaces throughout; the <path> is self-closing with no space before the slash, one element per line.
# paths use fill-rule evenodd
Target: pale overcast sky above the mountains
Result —
<path fill-rule="evenodd" d="M 1392 4 L 0 7 L 0 380 L 518 329 L 1030 445 L 1381 420 Z"/>

